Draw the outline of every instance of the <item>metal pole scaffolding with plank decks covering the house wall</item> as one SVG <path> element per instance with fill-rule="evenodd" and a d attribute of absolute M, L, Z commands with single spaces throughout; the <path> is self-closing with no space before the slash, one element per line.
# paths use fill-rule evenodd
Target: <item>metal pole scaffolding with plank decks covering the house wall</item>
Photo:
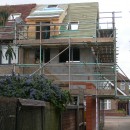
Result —
<path fill-rule="evenodd" d="M 5 27 L 10 33 L 0 34 L 13 36 L 13 44 L 19 48 L 15 73 L 44 74 L 74 94 L 79 94 L 77 82 L 85 95 L 115 98 L 123 94 L 117 88 L 116 13 L 120 12 L 101 12 L 98 19 L 69 23 L 21 24 L 20 19 Z M 87 88 L 88 83 L 95 89 Z"/>

